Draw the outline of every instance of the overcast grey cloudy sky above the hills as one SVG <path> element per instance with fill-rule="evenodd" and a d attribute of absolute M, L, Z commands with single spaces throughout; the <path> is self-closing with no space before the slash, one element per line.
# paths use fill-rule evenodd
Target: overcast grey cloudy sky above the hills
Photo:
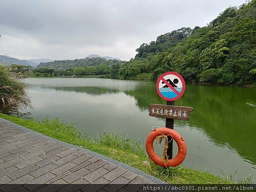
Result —
<path fill-rule="evenodd" d="M 0 0 L 0 55 L 129 60 L 141 44 L 206 26 L 245 0 Z"/>

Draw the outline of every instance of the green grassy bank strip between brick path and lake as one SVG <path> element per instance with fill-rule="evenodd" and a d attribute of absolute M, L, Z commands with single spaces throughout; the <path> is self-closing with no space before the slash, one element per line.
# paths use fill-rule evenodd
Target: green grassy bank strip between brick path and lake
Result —
<path fill-rule="evenodd" d="M 0 117 L 49 137 L 119 160 L 168 183 L 233 183 L 229 179 L 231 177 L 221 178 L 207 172 L 187 169 L 184 166 L 169 168 L 168 170 L 158 167 L 148 160 L 144 147 L 139 141 L 130 140 L 125 136 L 103 133 L 91 137 L 79 131 L 75 124 L 54 118 L 21 119 L 2 113 L 0 113 Z M 150 163 L 145 163 L 145 161 Z"/>

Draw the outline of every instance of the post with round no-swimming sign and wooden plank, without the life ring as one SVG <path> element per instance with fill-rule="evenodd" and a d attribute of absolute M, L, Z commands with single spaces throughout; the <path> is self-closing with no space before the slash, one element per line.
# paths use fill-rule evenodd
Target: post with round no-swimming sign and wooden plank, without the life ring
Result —
<path fill-rule="evenodd" d="M 180 74 L 167 72 L 157 80 L 157 93 L 166 100 L 166 105 L 149 105 L 149 116 L 166 118 L 166 128 L 174 128 L 174 119 L 188 120 L 191 107 L 175 106 L 175 100 L 179 99 L 185 91 L 185 81 Z M 168 136 L 168 159 L 172 159 L 172 137 Z"/>

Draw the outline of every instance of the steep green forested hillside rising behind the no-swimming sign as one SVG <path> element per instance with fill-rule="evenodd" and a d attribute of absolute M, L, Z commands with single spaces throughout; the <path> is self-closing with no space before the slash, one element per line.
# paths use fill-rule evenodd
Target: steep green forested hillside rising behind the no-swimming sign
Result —
<path fill-rule="evenodd" d="M 187 82 L 256 83 L 256 0 L 229 7 L 206 27 L 182 28 L 142 44 L 119 78 L 151 79 L 167 71 Z"/>

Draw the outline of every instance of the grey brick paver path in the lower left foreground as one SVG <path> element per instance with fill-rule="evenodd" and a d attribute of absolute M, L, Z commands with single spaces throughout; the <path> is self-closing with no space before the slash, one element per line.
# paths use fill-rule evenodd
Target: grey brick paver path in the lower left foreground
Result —
<path fill-rule="evenodd" d="M 154 181 L 0 118 L 0 184 L 4 183 L 145 184 Z"/>

